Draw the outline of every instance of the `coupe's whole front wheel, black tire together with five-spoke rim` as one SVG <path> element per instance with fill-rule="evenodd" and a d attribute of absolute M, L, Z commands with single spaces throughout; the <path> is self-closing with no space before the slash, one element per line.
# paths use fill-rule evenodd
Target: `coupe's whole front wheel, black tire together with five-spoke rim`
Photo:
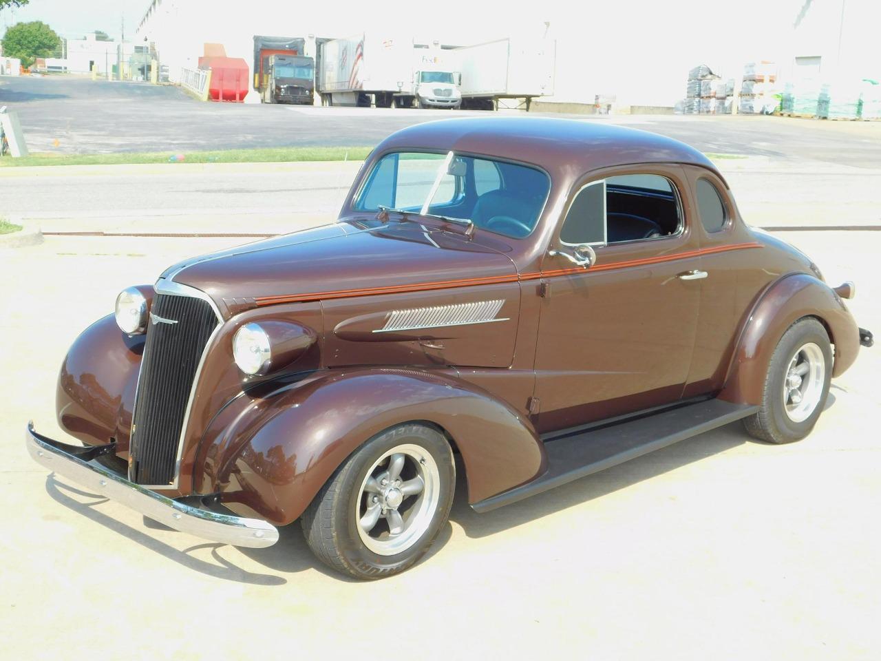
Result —
<path fill-rule="evenodd" d="M 300 519 L 329 567 L 360 579 L 415 564 L 447 522 L 453 453 L 432 427 L 393 427 L 366 442 L 322 486 Z"/>

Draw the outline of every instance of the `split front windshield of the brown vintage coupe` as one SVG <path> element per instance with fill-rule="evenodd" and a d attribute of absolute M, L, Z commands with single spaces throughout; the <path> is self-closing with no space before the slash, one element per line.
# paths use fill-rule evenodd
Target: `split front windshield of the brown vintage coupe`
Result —
<path fill-rule="evenodd" d="M 514 238 L 536 227 L 551 182 L 534 167 L 454 152 L 391 152 L 374 164 L 354 208 L 470 220 Z"/>

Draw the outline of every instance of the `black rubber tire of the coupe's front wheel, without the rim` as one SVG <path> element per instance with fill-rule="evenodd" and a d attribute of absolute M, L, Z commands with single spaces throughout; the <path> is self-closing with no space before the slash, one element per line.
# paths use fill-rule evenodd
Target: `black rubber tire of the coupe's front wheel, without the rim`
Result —
<path fill-rule="evenodd" d="M 375 496 L 362 494 L 361 487 L 368 473 L 375 475 L 377 470 L 382 470 L 382 464 L 374 468 L 377 461 L 401 445 L 418 446 L 433 459 L 437 468 L 436 506 L 430 517 L 424 519 L 426 527 L 411 546 L 395 554 L 374 553 L 362 540 L 364 533 L 360 531 L 359 513 L 365 504 L 369 504 L 362 499 L 373 497 L 375 500 Z M 412 457 L 408 456 L 408 459 L 412 460 Z M 300 523 L 309 547 L 330 568 L 363 580 L 384 578 L 411 568 L 426 553 L 447 522 L 454 491 L 455 463 L 446 438 L 433 427 L 405 424 L 374 436 L 353 452 L 315 495 Z M 427 493 L 426 487 L 423 494 Z M 413 502 L 421 503 L 423 497 L 427 496 L 415 496 Z M 416 507 L 411 505 L 411 512 L 403 515 L 411 516 L 408 526 Z M 385 525 L 388 539 L 390 524 Z"/>

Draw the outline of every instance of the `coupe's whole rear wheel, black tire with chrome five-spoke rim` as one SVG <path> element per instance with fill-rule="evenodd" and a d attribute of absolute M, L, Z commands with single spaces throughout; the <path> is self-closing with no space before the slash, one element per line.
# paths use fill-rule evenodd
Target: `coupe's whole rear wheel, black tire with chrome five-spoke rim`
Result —
<path fill-rule="evenodd" d="M 765 378 L 761 410 L 744 418 L 761 441 L 788 443 L 811 433 L 832 380 L 832 347 L 822 323 L 804 318 L 783 334 Z"/>

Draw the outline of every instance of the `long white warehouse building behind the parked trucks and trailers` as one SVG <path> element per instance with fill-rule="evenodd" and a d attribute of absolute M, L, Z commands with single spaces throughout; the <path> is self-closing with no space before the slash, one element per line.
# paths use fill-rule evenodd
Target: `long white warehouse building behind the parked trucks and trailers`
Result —
<path fill-rule="evenodd" d="M 211 0 L 146 0 L 136 42 L 152 42 L 159 62 L 177 82 L 181 67 L 197 67 L 206 42 L 222 44 L 227 56 L 241 57 L 251 67 L 255 34 L 339 38 L 371 30 L 463 46 L 507 36 L 547 37 L 556 41 L 554 93 L 548 100 L 593 104 L 600 96 L 625 108 L 674 106 L 685 95 L 687 72 L 702 63 L 725 78 L 735 78 L 746 62 L 772 60 L 787 75 L 796 66 L 796 56 L 819 54 L 826 70 L 833 64 L 858 64 L 866 70 L 861 75 L 868 75 L 874 66 L 871 60 L 878 57 L 864 36 L 879 24 L 875 0 L 546 0 L 539 6 L 507 4 L 505 11 L 499 6 L 448 0 L 416 11 L 413 4 L 395 0 L 378 11 L 374 4 L 353 0 L 254 0 L 244 8 Z M 255 93 L 248 96 L 256 98 Z"/>

